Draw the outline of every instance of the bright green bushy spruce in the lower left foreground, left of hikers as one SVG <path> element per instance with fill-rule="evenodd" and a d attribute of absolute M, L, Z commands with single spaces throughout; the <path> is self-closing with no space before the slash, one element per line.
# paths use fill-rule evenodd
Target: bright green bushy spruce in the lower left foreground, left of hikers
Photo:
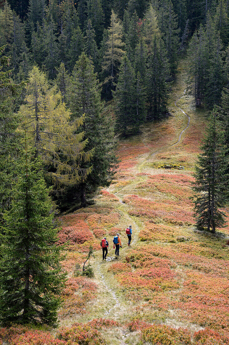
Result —
<path fill-rule="evenodd" d="M 53 228 L 53 205 L 41 164 L 28 152 L 18 164 L 0 248 L 0 322 L 55 325 L 65 275 Z"/>

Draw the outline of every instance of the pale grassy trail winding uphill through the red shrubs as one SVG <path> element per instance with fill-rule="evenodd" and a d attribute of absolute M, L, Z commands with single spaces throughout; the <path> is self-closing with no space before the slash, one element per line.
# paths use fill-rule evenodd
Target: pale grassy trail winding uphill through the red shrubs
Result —
<path fill-rule="evenodd" d="M 187 107 L 188 102 L 191 101 L 191 97 L 187 95 L 186 89 L 187 89 L 187 78 L 185 75 L 184 78 L 184 65 L 186 64 L 185 61 L 181 61 L 180 66 L 178 68 L 178 76 L 177 80 L 173 87 L 173 92 L 171 93 L 171 97 L 169 100 L 169 110 L 173 114 L 172 117 L 169 117 L 166 122 L 167 127 L 173 128 L 173 133 L 170 138 L 166 140 L 166 142 L 163 142 L 163 146 L 160 146 L 160 142 L 155 147 L 152 147 L 152 134 L 155 131 L 154 124 L 147 124 L 142 129 L 142 140 L 144 143 L 144 146 L 148 149 L 147 154 L 143 154 L 142 156 L 138 157 L 137 165 L 132 168 L 132 172 L 134 174 L 135 180 L 134 183 L 131 184 L 131 190 L 130 186 L 124 187 L 124 188 L 114 188 L 111 186 L 108 191 L 110 193 L 114 193 L 114 195 L 118 198 L 119 204 L 117 206 L 118 210 L 122 212 L 123 221 L 125 220 L 126 227 L 129 224 L 132 224 L 133 228 L 133 237 L 132 237 L 132 243 L 131 248 L 135 248 L 138 246 L 139 238 L 138 233 L 140 230 L 143 229 L 144 225 L 142 222 L 139 222 L 139 219 L 136 219 L 135 217 L 131 217 L 128 214 L 129 207 L 127 204 L 123 203 L 124 197 L 129 194 L 130 191 L 135 190 L 136 184 L 140 183 L 143 179 L 140 176 L 136 176 L 137 173 L 144 172 L 145 169 L 147 169 L 148 173 L 155 174 L 161 172 L 158 171 L 158 169 L 155 169 L 154 166 L 150 167 L 152 165 L 152 162 L 154 163 L 157 158 L 155 158 L 155 155 L 157 155 L 159 152 L 169 152 L 171 148 L 178 146 L 182 147 L 182 140 L 185 137 L 185 132 L 187 131 L 190 122 L 195 121 L 193 119 L 192 112 L 186 113 L 186 108 L 183 107 L 183 99 L 185 98 L 185 105 Z M 185 66 L 186 67 L 186 66 Z M 181 82 L 182 81 L 182 82 Z M 189 115 L 190 114 L 190 115 Z M 163 125 L 163 124 L 158 124 Z M 148 127 L 149 126 L 149 131 Z M 138 140 L 139 138 L 137 138 Z M 164 171 L 163 171 L 164 172 Z M 134 193 L 135 194 L 135 193 Z M 137 194 L 137 193 L 136 193 Z M 145 195 L 147 198 L 148 196 Z M 103 309 L 103 312 L 101 313 L 101 310 L 98 311 L 97 315 L 93 315 L 93 317 L 104 317 L 104 318 L 111 318 L 115 319 L 117 321 L 123 321 L 123 316 L 130 315 L 131 312 L 129 310 L 129 307 L 127 305 L 126 300 L 123 298 L 122 293 L 120 293 L 120 289 L 117 287 L 117 282 L 114 281 L 114 277 L 112 274 L 108 274 L 107 271 L 109 271 L 109 268 L 114 262 L 120 262 L 125 259 L 125 256 L 128 255 L 128 252 L 130 250 L 129 247 L 126 245 L 126 238 L 122 238 L 122 242 L 124 243 L 123 248 L 120 249 L 120 257 L 117 258 L 117 256 L 114 255 L 113 250 L 113 243 L 110 244 L 110 249 L 108 251 L 107 261 L 103 262 L 101 260 L 101 252 L 98 252 L 96 254 L 96 260 L 93 263 L 94 271 L 96 272 L 96 282 L 101 286 L 101 290 L 103 291 L 103 296 L 105 294 L 106 300 L 108 300 L 107 307 Z M 105 292 L 105 293 L 104 293 Z M 129 316 L 128 316 L 129 317 Z M 123 334 L 123 335 L 122 335 Z M 128 342 L 128 337 L 130 334 L 126 332 L 124 328 L 120 329 L 119 334 L 119 342 L 120 344 L 124 344 L 124 340 Z M 133 341 L 133 339 L 129 340 L 130 342 Z"/>

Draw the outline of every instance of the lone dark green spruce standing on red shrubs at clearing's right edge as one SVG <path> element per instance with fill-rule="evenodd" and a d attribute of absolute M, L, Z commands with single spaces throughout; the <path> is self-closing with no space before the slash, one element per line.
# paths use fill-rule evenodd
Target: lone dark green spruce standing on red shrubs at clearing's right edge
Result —
<path fill-rule="evenodd" d="M 215 233 L 216 227 L 225 224 L 221 208 L 225 206 L 226 168 L 228 157 L 225 156 L 223 132 L 219 125 L 217 109 L 214 107 L 209 117 L 202 153 L 196 165 L 194 203 L 197 227 L 203 230 L 207 226 Z"/>

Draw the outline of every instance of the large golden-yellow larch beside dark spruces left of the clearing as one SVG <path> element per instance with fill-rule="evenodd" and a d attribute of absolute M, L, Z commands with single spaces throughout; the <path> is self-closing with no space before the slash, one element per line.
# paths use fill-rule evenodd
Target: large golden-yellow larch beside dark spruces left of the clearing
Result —
<path fill-rule="evenodd" d="M 20 107 L 21 127 L 28 131 L 28 145 L 41 156 L 56 186 L 75 186 L 89 174 L 92 152 L 84 152 L 87 141 L 83 133 L 75 134 L 83 125 L 83 117 L 70 122 L 70 112 L 62 102 L 61 92 L 51 87 L 38 67 L 29 73 L 25 104 Z M 83 114 L 82 114 L 83 115 Z"/>

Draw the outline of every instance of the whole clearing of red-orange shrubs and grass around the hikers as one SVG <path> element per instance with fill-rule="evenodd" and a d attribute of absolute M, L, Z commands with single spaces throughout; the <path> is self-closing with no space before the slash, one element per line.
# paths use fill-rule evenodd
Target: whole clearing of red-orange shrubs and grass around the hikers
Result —
<path fill-rule="evenodd" d="M 194 231 L 189 196 L 207 113 L 190 106 L 187 63 L 178 66 L 170 116 L 122 140 L 111 187 L 97 195 L 95 205 L 58 219 L 67 271 L 59 329 L 2 328 L 0 344 L 228 344 L 229 226 L 215 237 Z M 187 125 L 175 101 L 190 125 L 171 146 Z M 117 232 L 123 244 L 118 259 L 112 243 Z M 104 262 L 103 236 L 110 243 Z M 77 276 L 90 245 L 95 276 Z"/>

